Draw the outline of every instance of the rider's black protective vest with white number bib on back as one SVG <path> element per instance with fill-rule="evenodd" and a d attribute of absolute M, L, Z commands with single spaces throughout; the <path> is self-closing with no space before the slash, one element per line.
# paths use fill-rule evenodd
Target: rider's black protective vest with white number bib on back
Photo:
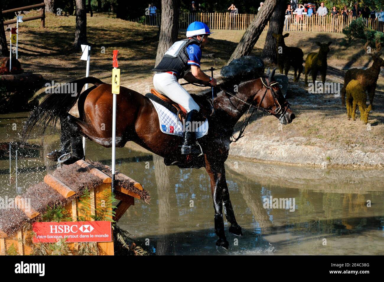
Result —
<path fill-rule="evenodd" d="M 184 74 L 190 69 L 190 65 L 188 64 L 189 56 L 187 53 L 187 47 L 191 44 L 196 44 L 200 46 L 200 41 L 194 38 L 187 38 L 180 41 L 176 41 L 174 45 L 180 43 L 181 41 L 187 41 L 187 43 L 185 43 L 185 45 L 180 48 L 179 52 L 174 56 L 170 56 L 166 53 L 161 59 L 160 63 L 154 69 L 152 69 L 152 71 L 174 71 L 179 74 L 179 76 L 177 77 L 178 79 L 184 77 Z M 172 49 L 172 47 L 169 48 L 168 51 L 170 49 Z"/>

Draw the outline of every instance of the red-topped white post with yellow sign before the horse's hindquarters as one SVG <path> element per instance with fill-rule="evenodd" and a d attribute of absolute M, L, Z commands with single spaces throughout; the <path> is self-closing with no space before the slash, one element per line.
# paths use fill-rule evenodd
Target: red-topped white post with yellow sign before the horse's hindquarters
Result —
<path fill-rule="evenodd" d="M 115 160 L 116 160 L 116 99 L 120 94 L 120 69 L 118 69 L 118 53 L 119 50 L 113 50 L 113 69 L 112 69 L 112 93 L 113 93 L 113 109 L 112 109 L 112 193 L 115 191 Z"/>

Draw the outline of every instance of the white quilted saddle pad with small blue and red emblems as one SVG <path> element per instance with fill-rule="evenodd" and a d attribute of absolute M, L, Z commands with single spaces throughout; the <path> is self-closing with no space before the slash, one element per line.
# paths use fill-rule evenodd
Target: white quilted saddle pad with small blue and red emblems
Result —
<path fill-rule="evenodd" d="M 157 115 L 159 115 L 160 130 L 165 134 L 183 136 L 183 124 L 180 122 L 179 117 L 159 103 L 153 100 L 151 102 L 156 109 Z M 188 124 L 185 125 L 187 128 L 188 126 Z M 195 132 L 196 138 L 203 137 L 208 133 L 208 120 L 205 119 L 205 122 L 201 124 L 196 122 L 196 124 L 192 125 L 192 130 Z"/>

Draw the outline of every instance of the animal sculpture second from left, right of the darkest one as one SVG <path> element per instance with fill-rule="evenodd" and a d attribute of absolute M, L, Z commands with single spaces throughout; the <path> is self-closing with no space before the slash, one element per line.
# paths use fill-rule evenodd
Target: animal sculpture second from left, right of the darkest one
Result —
<path fill-rule="evenodd" d="M 311 72 L 313 84 L 316 80 L 316 76 L 320 71 L 321 81 L 324 83 L 327 75 L 327 55 L 330 51 L 329 45 L 332 41 L 328 43 L 316 42 L 316 45 L 320 46 L 319 53 L 309 53 L 305 59 L 305 86 L 308 86 L 308 74 Z"/>

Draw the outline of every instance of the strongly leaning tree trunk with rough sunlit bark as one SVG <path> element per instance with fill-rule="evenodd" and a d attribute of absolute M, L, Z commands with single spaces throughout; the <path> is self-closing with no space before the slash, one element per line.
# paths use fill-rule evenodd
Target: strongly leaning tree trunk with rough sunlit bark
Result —
<path fill-rule="evenodd" d="M 248 26 L 227 64 L 229 64 L 233 59 L 247 56 L 252 52 L 253 46 L 255 46 L 260 34 L 264 30 L 265 25 L 268 23 L 268 20 L 276 7 L 276 3 L 277 0 L 266 0 L 264 2 L 263 8 L 260 9 L 251 24 Z"/>

